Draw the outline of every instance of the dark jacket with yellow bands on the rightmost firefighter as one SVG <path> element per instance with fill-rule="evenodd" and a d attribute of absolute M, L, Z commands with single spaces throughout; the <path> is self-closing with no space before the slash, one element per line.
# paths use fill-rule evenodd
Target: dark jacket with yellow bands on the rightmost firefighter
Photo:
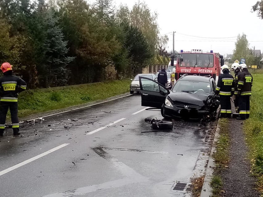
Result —
<path fill-rule="evenodd" d="M 238 76 L 237 90 L 240 92 L 240 96 L 251 96 L 251 87 L 253 84 L 253 76 L 248 72 L 247 68 Z"/>

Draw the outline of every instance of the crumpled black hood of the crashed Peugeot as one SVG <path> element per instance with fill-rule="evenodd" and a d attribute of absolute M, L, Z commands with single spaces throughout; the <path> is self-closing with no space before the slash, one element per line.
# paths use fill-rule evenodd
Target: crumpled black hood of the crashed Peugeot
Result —
<path fill-rule="evenodd" d="M 200 107 L 205 105 L 206 101 L 209 101 L 209 99 L 213 97 L 213 95 L 205 92 L 198 92 L 196 94 L 188 92 L 171 92 L 168 96 L 174 103 L 180 102 L 181 104 L 198 105 Z"/>

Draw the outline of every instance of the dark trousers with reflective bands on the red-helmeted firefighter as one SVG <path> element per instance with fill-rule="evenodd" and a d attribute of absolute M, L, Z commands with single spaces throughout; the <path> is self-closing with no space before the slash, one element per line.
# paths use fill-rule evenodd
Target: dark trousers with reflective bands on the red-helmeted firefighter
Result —
<path fill-rule="evenodd" d="M 19 132 L 19 120 L 18 120 L 18 105 L 17 102 L 0 102 L 0 134 L 2 135 L 5 130 L 6 124 L 6 114 L 8 109 L 10 109 L 11 121 L 13 134 L 18 134 Z"/>

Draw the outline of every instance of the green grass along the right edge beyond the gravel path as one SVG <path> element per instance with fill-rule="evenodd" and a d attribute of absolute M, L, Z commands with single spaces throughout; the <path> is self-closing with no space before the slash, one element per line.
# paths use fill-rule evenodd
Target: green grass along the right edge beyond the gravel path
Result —
<path fill-rule="evenodd" d="M 250 118 L 244 130 L 249 147 L 252 173 L 258 178 L 258 189 L 263 194 L 263 74 L 253 74 Z"/>

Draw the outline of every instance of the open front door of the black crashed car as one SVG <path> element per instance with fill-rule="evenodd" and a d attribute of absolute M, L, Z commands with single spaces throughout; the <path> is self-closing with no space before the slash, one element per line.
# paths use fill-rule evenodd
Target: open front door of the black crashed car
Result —
<path fill-rule="evenodd" d="M 170 91 L 155 80 L 139 76 L 142 106 L 161 109 Z"/>

